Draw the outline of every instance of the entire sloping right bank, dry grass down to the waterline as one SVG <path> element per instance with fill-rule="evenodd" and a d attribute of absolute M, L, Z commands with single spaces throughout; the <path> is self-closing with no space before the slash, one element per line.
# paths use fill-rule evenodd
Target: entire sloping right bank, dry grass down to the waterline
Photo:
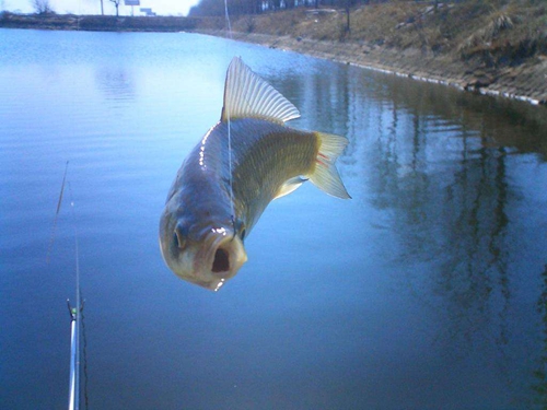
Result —
<path fill-rule="evenodd" d="M 234 39 L 462 90 L 547 103 L 547 3 L 388 2 L 234 19 Z M 205 23 L 205 21 L 203 21 Z M 224 36 L 220 26 L 197 30 Z"/>

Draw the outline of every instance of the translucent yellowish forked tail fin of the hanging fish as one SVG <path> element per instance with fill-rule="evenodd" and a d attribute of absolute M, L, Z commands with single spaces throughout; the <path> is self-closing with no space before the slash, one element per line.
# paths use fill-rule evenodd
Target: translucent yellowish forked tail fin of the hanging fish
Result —
<path fill-rule="evenodd" d="M 330 133 L 315 132 L 319 142 L 319 151 L 315 160 L 315 171 L 310 180 L 323 191 L 338 198 L 351 198 L 344 186 L 340 174 L 336 168 L 336 159 L 348 144 L 344 137 Z"/>

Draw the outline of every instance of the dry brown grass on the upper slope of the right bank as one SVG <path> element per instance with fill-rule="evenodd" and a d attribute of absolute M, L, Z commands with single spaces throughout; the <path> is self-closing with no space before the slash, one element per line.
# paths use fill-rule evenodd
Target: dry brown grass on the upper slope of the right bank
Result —
<path fill-rule="evenodd" d="M 296 9 L 240 17 L 234 30 L 322 40 L 347 40 L 424 54 L 479 58 L 502 65 L 547 54 L 545 0 L 468 0 L 444 2 L 438 10 L 423 2 L 391 1 L 351 11 Z"/>

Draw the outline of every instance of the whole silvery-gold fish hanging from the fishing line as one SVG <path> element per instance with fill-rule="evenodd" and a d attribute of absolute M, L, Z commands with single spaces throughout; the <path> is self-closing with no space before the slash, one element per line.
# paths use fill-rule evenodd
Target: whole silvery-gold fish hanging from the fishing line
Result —
<path fill-rule="evenodd" d="M 298 108 L 240 57 L 220 120 L 184 160 L 160 219 L 160 248 L 179 278 L 218 291 L 246 262 L 244 241 L 266 207 L 310 180 L 350 198 L 335 162 L 345 137 L 290 128 Z"/>

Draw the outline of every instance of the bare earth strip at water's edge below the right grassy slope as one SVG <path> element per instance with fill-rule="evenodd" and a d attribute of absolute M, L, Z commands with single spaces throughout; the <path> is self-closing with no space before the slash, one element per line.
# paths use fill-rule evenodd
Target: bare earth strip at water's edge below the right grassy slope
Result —
<path fill-rule="evenodd" d="M 236 42 L 279 48 L 333 60 L 366 70 L 406 77 L 416 81 L 443 84 L 481 95 L 522 101 L 547 106 L 547 58 L 538 63 L 523 63 L 504 70 L 486 70 L 478 65 L 455 61 L 446 56 L 423 56 L 420 50 L 388 49 L 352 42 L 326 42 L 259 33 L 196 30 L 191 31 Z M 524 66 L 524 67 L 522 67 Z"/>

